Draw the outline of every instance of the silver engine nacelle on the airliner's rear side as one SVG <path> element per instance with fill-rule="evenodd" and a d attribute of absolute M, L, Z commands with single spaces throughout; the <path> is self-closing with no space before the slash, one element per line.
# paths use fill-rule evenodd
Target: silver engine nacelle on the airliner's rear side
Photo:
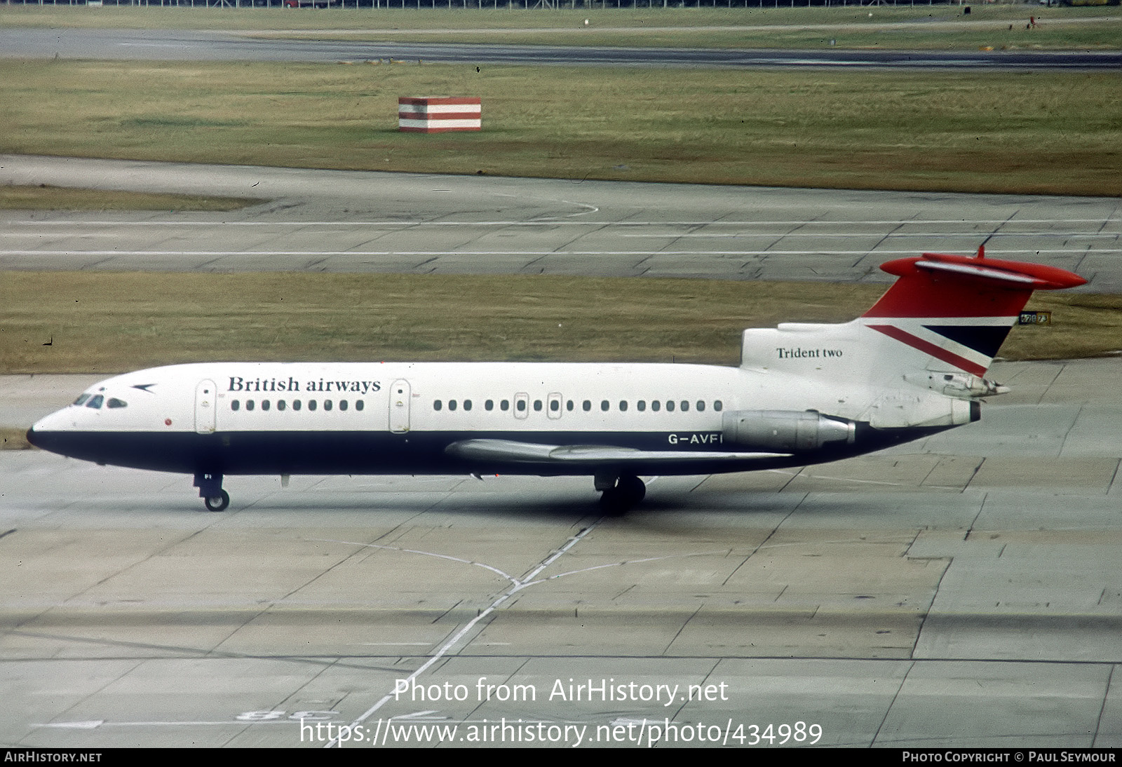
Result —
<path fill-rule="evenodd" d="M 817 410 L 730 410 L 725 413 L 725 442 L 769 452 L 821 450 L 828 442 L 853 444 L 856 424 Z"/>

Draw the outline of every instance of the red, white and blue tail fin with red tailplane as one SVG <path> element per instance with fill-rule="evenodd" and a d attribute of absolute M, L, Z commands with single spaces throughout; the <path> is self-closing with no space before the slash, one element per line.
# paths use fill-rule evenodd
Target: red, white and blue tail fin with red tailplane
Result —
<path fill-rule="evenodd" d="M 900 279 L 862 315 L 861 324 L 899 342 L 901 351 L 911 348 L 926 355 L 921 369 L 978 377 L 1033 290 L 1087 281 L 1056 267 L 987 259 L 984 246 L 974 258 L 923 253 L 881 269 Z"/>

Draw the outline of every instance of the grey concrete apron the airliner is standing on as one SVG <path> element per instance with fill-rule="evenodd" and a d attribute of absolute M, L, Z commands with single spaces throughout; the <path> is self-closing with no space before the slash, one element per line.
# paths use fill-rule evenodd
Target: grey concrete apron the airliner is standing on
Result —
<path fill-rule="evenodd" d="M 1122 360 L 993 372 L 976 424 L 615 519 L 509 477 L 229 478 L 209 514 L 2 451 L 0 741 L 1120 747 Z M 86 382 L 0 389 L 26 423 Z"/>

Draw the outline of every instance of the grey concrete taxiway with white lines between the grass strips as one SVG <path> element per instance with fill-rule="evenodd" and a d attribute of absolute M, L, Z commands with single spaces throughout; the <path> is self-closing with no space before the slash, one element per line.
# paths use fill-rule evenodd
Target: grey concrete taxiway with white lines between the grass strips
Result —
<path fill-rule="evenodd" d="M 1110 197 L 853 192 L 0 156 L 0 183 L 229 195 L 229 213 L 0 212 L 0 268 L 889 281 L 922 251 L 1122 290 Z"/>

